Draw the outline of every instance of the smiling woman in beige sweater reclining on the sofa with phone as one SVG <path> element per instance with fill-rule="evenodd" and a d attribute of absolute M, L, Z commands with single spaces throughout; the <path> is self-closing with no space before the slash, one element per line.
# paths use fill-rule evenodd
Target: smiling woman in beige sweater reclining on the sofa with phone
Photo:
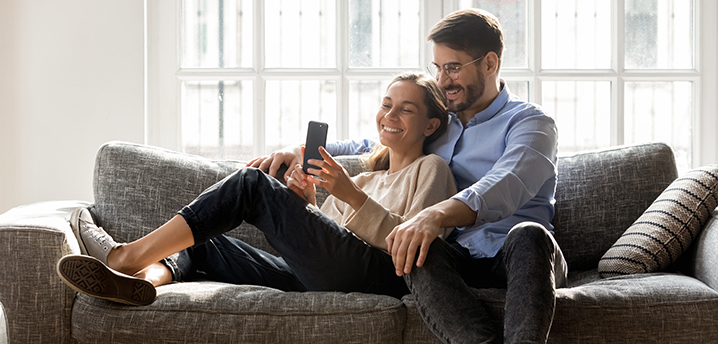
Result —
<path fill-rule="evenodd" d="M 297 165 L 285 187 L 245 168 L 152 233 L 123 245 L 79 209 L 71 224 L 84 255 L 63 257 L 58 274 L 79 292 L 134 305 L 153 302 L 156 286 L 196 278 L 400 297 L 408 289 L 394 272 L 384 238 L 456 192 L 446 162 L 424 153 L 446 131 L 447 119 L 444 94 L 433 78 L 398 76 L 376 116 L 381 144 L 367 159 L 372 172 L 350 178 L 323 148 L 323 161 L 309 161 L 320 168 L 309 172 L 321 179 Z M 321 210 L 315 206 L 316 185 L 331 194 Z M 242 221 L 259 228 L 281 257 L 223 235 Z"/>

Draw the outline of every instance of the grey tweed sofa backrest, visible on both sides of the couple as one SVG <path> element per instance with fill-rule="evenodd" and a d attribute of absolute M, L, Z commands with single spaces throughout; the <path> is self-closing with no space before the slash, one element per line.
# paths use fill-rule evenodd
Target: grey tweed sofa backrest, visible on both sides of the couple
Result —
<path fill-rule="evenodd" d="M 336 157 L 350 175 L 357 157 Z M 119 242 L 130 242 L 172 218 L 204 189 L 244 166 L 124 142 L 97 154 L 92 212 Z M 661 143 L 610 148 L 560 157 L 555 236 L 571 270 L 595 268 L 603 253 L 677 177 L 673 152 Z M 318 190 L 321 202 L 326 190 Z M 276 252 L 256 228 L 228 233 Z"/>

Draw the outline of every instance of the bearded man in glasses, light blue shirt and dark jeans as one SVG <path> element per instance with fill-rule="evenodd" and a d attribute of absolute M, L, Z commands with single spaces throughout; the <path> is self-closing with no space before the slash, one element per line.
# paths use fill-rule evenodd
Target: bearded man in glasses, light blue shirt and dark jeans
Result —
<path fill-rule="evenodd" d="M 493 15 L 454 12 L 428 39 L 434 43 L 428 69 L 452 112 L 447 134 L 430 151 L 449 162 L 461 191 L 387 236 L 396 273 L 404 276 L 424 322 L 445 343 L 499 341 L 469 287 L 506 287 L 506 343 L 544 343 L 555 288 L 566 280 L 565 261 L 550 232 L 555 124 L 540 108 L 511 95 L 499 78 L 503 35 Z M 357 154 L 372 144 L 338 142 L 327 150 Z M 286 150 L 251 164 L 272 173 L 296 155 Z M 444 240 L 437 238 L 442 227 L 456 230 Z"/>

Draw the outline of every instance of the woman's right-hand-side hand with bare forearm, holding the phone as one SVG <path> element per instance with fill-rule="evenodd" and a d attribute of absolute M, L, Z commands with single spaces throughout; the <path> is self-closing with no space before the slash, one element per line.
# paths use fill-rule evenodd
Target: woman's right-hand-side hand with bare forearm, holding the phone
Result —
<path fill-rule="evenodd" d="M 310 168 L 307 171 L 324 180 L 312 176 L 309 176 L 307 180 L 327 189 L 330 194 L 349 204 L 354 210 L 359 210 L 369 196 L 349 178 L 344 167 L 337 163 L 324 147 L 319 147 L 319 154 L 324 160 L 309 159 L 308 163 L 320 169 Z"/>

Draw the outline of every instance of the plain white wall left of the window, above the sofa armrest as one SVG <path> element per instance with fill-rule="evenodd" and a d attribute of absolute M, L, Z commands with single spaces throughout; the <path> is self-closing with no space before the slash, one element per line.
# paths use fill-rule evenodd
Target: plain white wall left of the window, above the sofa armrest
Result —
<path fill-rule="evenodd" d="M 98 147 L 144 141 L 141 0 L 0 0 L 0 213 L 92 201 Z"/>

